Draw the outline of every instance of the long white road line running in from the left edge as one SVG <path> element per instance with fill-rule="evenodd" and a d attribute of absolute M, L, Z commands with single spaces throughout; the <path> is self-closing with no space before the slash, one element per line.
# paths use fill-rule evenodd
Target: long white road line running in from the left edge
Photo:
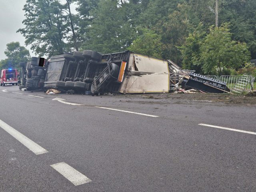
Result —
<path fill-rule="evenodd" d="M 24 136 L 22 133 L 18 132 L 14 128 L 12 128 L 10 125 L 6 124 L 2 120 L 0 120 L 0 127 L 8 132 L 11 136 L 16 138 L 19 142 L 21 142 L 24 146 L 26 146 L 28 149 L 30 149 L 34 154 L 40 155 L 43 153 L 47 153 L 48 151 L 42 148 L 40 145 L 36 144 L 34 141 L 30 140 L 26 136 Z"/>

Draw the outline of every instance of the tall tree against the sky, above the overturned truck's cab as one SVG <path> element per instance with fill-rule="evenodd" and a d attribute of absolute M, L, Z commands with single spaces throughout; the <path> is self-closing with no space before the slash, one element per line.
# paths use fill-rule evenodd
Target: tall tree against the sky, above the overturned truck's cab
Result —
<path fill-rule="evenodd" d="M 69 49 L 64 42 L 69 28 L 58 0 L 26 0 L 23 10 L 25 28 L 17 32 L 26 38 L 26 45 L 31 45 L 36 54 L 59 55 Z"/>

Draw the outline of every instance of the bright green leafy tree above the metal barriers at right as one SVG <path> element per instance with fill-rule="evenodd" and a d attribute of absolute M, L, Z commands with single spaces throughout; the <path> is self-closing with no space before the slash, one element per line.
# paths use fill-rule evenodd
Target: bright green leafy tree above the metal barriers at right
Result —
<path fill-rule="evenodd" d="M 204 73 L 222 75 L 225 70 L 237 70 L 250 60 L 246 44 L 232 40 L 231 36 L 226 23 L 219 28 L 210 27 L 210 33 L 200 46 Z"/>

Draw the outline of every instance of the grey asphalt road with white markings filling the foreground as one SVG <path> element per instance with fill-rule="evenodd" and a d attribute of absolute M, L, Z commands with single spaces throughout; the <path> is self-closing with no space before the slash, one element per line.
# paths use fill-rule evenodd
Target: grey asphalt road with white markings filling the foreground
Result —
<path fill-rule="evenodd" d="M 5 86 L 0 108 L 0 192 L 256 191 L 256 106 Z"/>

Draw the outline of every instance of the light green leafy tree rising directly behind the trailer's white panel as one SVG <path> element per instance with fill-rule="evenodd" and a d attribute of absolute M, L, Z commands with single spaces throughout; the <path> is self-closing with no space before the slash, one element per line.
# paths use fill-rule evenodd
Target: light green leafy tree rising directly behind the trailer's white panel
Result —
<path fill-rule="evenodd" d="M 128 50 L 155 58 L 162 58 L 162 50 L 164 48 L 161 42 L 162 37 L 146 28 L 140 30 L 140 33 Z"/>

